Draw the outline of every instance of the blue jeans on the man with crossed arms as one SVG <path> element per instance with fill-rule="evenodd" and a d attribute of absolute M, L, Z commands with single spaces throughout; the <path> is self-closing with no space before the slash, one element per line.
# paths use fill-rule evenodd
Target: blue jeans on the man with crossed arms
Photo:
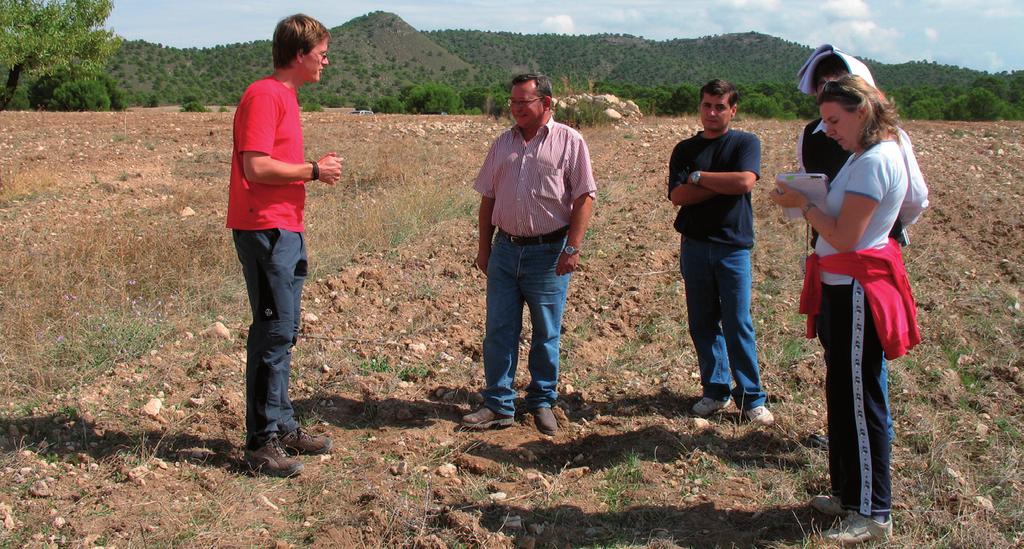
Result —
<path fill-rule="evenodd" d="M 679 269 L 703 396 L 725 400 L 731 394 L 742 410 L 764 405 L 751 319 L 751 251 L 683 239 Z"/>

